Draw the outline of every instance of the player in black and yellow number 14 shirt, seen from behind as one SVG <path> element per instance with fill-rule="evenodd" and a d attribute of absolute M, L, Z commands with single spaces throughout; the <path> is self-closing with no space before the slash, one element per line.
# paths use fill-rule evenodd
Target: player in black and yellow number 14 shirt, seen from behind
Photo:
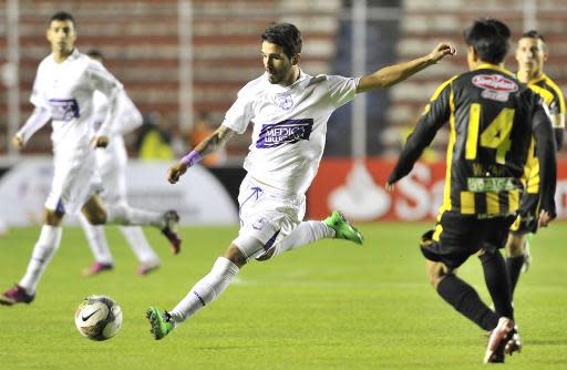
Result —
<path fill-rule="evenodd" d="M 540 226 L 555 218 L 555 138 L 542 97 L 504 69 L 509 29 L 480 19 L 465 30 L 471 72 L 442 83 L 425 106 L 392 171 L 386 188 L 408 175 L 436 132 L 450 125 L 444 202 L 421 250 L 437 294 L 460 314 L 491 331 L 484 362 L 504 362 L 522 346 L 506 264 L 499 249 L 516 217 L 522 177 L 532 137 L 540 164 Z M 540 148 L 540 150 L 539 150 Z M 456 276 L 470 256 L 481 251 L 492 311 L 475 289 Z"/>

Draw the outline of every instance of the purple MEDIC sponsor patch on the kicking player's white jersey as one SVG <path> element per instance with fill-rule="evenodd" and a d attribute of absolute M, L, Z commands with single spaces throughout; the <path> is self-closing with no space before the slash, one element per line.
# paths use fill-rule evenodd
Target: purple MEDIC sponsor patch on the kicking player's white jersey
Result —
<path fill-rule="evenodd" d="M 286 120 L 274 124 L 265 124 L 260 130 L 256 147 L 268 148 L 285 143 L 297 143 L 309 140 L 313 130 L 313 119 Z"/>

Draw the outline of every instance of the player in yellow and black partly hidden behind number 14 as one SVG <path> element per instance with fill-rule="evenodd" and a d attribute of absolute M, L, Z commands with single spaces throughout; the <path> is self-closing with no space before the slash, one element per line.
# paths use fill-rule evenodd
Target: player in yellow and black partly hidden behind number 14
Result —
<path fill-rule="evenodd" d="M 534 30 L 522 34 L 516 48 L 516 61 L 518 63 L 516 76 L 546 101 L 555 131 L 557 151 L 559 151 L 563 145 L 565 130 L 565 99 L 559 86 L 544 73 L 544 64 L 547 61 L 547 56 L 548 48 L 542 34 Z M 520 203 L 520 214 L 523 216 L 518 216 L 512 225 L 506 243 L 508 251 L 506 265 L 508 267 L 513 298 L 523 266 L 524 270 L 527 270 L 532 263 L 527 236 L 537 232 L 539 165 L 536 152 L 536 145 L 533 145 L 528 163 L 526 164 L 526 192 L 522 195 Z"/>

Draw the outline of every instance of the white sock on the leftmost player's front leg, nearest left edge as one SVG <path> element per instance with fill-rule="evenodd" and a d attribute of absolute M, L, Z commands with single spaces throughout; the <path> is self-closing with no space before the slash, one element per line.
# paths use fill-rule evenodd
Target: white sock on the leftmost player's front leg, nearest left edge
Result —
<path fill-rule="evenodd" d="M 31 254 L 25 275 L 19 284 L 29 295 L 35 292 L 41 275 L 61 244 L 61 235 L 63 235 L 61 226 L 43 225 L 41 227 L 40 238 Z"/>

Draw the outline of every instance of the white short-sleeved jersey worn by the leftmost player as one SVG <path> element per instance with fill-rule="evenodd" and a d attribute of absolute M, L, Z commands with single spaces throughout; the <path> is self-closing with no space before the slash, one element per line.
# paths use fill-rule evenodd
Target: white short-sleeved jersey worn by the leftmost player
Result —
<path fill-rule="evenodd" d="M 96 90 L 114 96 L 122 84 L 101 63 L 76 49 L 62 63 L 56 63 L 52 54 L 41 61 L 30 101 L 51 114 L 54 152 L 72 155 L 78 147 L 89 145 Z"/>

